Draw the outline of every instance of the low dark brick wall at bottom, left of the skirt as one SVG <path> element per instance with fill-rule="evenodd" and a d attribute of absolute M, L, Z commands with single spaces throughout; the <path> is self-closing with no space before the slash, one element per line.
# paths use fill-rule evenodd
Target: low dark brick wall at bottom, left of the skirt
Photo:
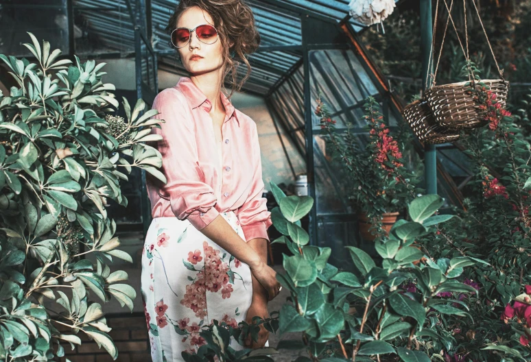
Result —
<path fill-rule="evenodd" d="M 108 335 L 113 338 L 118 350 L 118 358 L 113 360 L 105 348 L 98 348 L 95 341 L 83 332 L 78 333 L 81 346 L 75 345 L 71 350 L 68 342 L 61 343 L 64 356 L 56 361 L 64 362 L 68 358 L 72 362 L 150 362 L 150 343 L 148 343 L 147 326 L 144 313 L 131 313 L 120 315 L 106 315 L 107 325 L 110 328 Z M 62 328 L 58 328 L 62 330 Z M 65 332 L 68 333 L 69 328 Z M 57 346 L 54 346 L 56 350 Z"/>

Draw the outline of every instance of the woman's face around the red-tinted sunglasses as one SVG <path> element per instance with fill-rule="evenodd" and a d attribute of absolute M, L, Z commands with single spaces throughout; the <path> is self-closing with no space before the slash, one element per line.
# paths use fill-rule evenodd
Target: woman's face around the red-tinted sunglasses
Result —
<path fill-rule="evenodd" d="M 182 12 L 176 27 L 195 29 L 198 25 L 203 24 L 214 25 L 214 21 L 210 14 L 198 6 L 193 6 Z M 182 65 L 193 75 L 216 71 L 223 65 L 223 45 L 219 35 L 215 43 L 205 44 L 198 39 L 194 30 L 191 33 L 189 43 L 185 47 L 178 49 L 178 51 Z M 202 58 L 191 59 L 192 56 L 196 55 Z"/>

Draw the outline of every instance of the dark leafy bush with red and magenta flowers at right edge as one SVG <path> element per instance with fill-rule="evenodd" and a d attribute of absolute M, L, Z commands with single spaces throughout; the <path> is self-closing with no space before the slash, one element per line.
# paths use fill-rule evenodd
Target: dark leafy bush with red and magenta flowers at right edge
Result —
<path fill-rule="evenodd" d="M 478 93 L 487 92 L 479 88 Z M 445 350 L 463 360 L 491 361 L 496 360 L 495 354 L 506 360 L 531 356 L 531 347 L 522 338 L 527 338 L 525 319 L 523 325 L 520 318 L 511 326 L 504 323 L 510 318 L 501 317 L 504 310 L 508 315 L 512 300 L 523 298 L 522 289 L 531 282 L 531 145 L 523 122 L 529 116 L 528 102 L 522 101 L 522 108 L 512 116 L 496 106 L 496 99 L 492 94 L 484 97 L 488 109 L 495 110 L 487 113 L 491 117 L 489 127 L 475 129 L 461 138 L 460 148 L 469 156 L 473 174 L 465 189 L 467 209 L 438 234 L 421 240 L 431 256 L 472 256 L 490 264 L 465 273 L 479 290 L 479 298 L 463 298 L 471 307 L 474 322 L 455 317 L 437 327 L 457 331 Z"/>

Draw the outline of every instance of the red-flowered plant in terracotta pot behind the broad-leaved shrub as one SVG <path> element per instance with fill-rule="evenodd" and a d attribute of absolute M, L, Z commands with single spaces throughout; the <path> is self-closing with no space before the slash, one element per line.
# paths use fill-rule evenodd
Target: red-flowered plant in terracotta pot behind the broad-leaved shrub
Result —
<path fill-rule="evenodd" d="M 403 165 L 402 153 L 374 97 L 364 104 L 368 143 L 360 147 L 351 133 L 338 132 L 335 120 L 331 119 L 327 105 L 320 95 L 315 113 L 320 117 L 320 126 L 327 131 L 329 142 L 340 156 L 346 168 L 345 178 L 349 200 L 357 210 L 359 230 L 366 240 L 387 234 L 397 220 L 404 205 L 414 198 L 416 179 Z M 375 235 L 370 230 L 375 230 Z"/>

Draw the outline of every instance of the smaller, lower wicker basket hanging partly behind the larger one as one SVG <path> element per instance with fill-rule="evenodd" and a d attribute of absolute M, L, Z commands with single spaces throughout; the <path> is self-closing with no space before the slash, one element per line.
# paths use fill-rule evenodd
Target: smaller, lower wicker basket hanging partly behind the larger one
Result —
<path fill-rule="evenodd" d="M 405 106 L 402 116 L 417 138 L 424 143 L 447 143 L 459 138 L 459 132 L 449 132 L 436 123 L 434 114 L 424 99 L 417 99 Z"/>

